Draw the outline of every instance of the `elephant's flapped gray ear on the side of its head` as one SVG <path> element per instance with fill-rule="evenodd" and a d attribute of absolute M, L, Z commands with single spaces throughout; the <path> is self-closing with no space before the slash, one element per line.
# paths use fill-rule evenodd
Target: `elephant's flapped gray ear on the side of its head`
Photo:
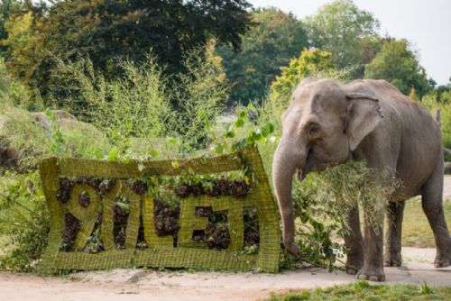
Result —
<path fill-rule="evenodd" d="M 363 93 L 347 93 L 347 127 L 349 148 L 354 151 L 383 118 L 379 99 Z"/>

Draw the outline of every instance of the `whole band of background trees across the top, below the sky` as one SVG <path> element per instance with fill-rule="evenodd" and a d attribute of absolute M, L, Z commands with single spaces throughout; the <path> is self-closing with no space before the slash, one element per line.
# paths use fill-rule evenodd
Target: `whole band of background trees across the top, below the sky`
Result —
<path fill-rule="evenodd" d="M 352 0 L 333 1 L 305 20 L 276 8 L 250 9 L 245 0 L 5 0 L 0 5 L 0 54 L 7 71 L 44 105 L 51 104 L 50 95 L 68 96 L 52 84 L 52 78 L 60 78 L 59 60 L 88 58 L 93 72 L 114 79 L 124 76 L 118 59 L 145 65 L 152 52 L 163 73 L 178 78 L 188 72 L 183 63 L 187 53 L 205 49 L 212 39 L 231 84 L 222 101 L 229 107 L 263 104 L 282 69 L 293 69 L 299 54 L 311 48 L 327 51 L 344 81 L 385 78 L 419 98 L 435 86 L 409 43 L 381 37 L 379 21 Z M 321 69 L 320 64 L 308 62 L 311 68 Z M 438 99 L 447 90 L 439 87 Z M 77 98 L 73 93 L 70 97 Z"/>

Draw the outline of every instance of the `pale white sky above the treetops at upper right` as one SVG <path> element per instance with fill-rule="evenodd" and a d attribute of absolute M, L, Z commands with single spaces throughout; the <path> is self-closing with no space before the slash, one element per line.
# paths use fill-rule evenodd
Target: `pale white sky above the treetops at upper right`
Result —
<path fill-rule="evenodd" d="M 304 19 L 331 0 L 248 0 L 255 7 L 273 6 Z M 451 78 L 451 0 L 354 0 L 381 22 L 382 35 L 410 41 L 419 63 L 438 85 Z"/>

